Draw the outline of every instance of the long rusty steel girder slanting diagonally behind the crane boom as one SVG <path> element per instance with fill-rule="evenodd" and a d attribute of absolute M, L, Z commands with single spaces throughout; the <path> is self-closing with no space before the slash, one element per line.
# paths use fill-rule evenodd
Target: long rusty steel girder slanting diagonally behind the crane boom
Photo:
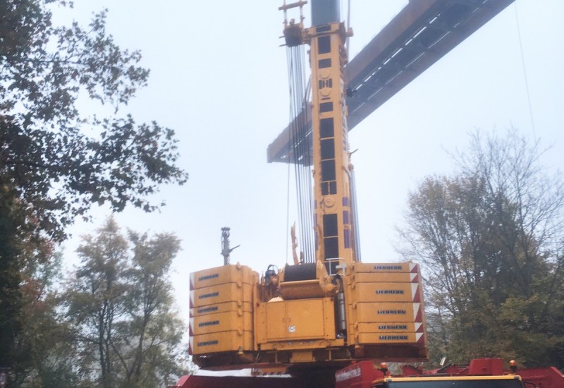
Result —
<path fill-rule="evenodd" d="M 513 1 L 410 1 L 345 68 L 348 87 L 353 92 L 347 98 L 348 130 Z M 307 134 L 311 136 L 311 107 L 308 108 Z M 286 127 L 269 145 L 268 162 L 295 160 L 290 149 L 292 142 Z"/>

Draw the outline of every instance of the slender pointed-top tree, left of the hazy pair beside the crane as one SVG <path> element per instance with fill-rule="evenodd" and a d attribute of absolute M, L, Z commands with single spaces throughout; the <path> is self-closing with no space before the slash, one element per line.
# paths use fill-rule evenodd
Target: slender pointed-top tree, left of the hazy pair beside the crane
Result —
<path fill-rule="evenodd" d="M 77 250 L 82 265 L 66 286 L 63 301 L 68 304 L 67 315 L 72 317 L 81 367 L 90 375 L 91 366 L 97 365 L 99 384 L 114 387 L 112 346 L 116 322 L 125 314 L 128 244 L 113 219 L 99 229 L 96 237 L 84 236 L 82 240 Z"/>

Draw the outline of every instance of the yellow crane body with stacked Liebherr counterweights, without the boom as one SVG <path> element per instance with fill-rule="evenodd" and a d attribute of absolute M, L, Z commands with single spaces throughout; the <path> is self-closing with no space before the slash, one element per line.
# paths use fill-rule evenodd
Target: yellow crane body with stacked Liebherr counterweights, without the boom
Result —
<path fill-rule="evenodd" d="M 426 359 L 419 266 L 356 262 L 344 272 L 328 275 L 329 284 L 343 279 L 341 309 L 338 287 L 318 296 L 327 288 L 319 279 L 295 281 L 298 291 L 283 298 L 276 291 L 283 282 L 259 279 L 240 264 L 190 274 L 190 353 L 204 367 L 226 358 L 241 364 Z M 287 283 L 291 289 L 294 281 Z"/>

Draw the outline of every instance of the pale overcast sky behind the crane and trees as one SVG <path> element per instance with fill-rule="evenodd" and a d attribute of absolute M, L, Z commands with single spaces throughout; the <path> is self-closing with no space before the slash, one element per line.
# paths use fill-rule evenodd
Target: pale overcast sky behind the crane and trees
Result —
<path fill-rule="evenodd" d="M 417 0 L 412 0 L 417 1 Z M 188 319 L 188 274 L 223 263 L 221 227 L 231 227 L 232 262 L 262 272 L 286 262 L 288 166 L 267 164 L 266 147 L 288 123 L 286 49 L 279 47 L 281 0 L 76 1 L 68 17 L 109 8 L 108 28 L 123 47 L 140 49 L 149 87 L 126 109 L 137 121 L 174 128 L 182 187 L 164 187 L 155 214 L 129 209 L 116 219 L 136 231 L 172 231 L 182 239 L 173 283 Z M 406 1 L 352 0 L 351 57 Z M 72 16 L 71 16 L 72 15 Z M 393 249 L 407 193 L 425 176 L 453 169 L 448 151 L 469 131 L 515 126 L 553 145 L 543 162 L 564 167 L 564 1 L 517 0 L 350 133 L 357 175 L 362 259 L 400 260 Z M 529 115 L 525 71 L 534 118 Z M 309 18 L 306 24 L 309 25 Z M 290 190 L 293 193 L 293 190 Z M 92 210 L 66 243 L 66 263 L 80 234 L 109 212 Z M 290 222 L 297 217 L 290 212 Z"/>

